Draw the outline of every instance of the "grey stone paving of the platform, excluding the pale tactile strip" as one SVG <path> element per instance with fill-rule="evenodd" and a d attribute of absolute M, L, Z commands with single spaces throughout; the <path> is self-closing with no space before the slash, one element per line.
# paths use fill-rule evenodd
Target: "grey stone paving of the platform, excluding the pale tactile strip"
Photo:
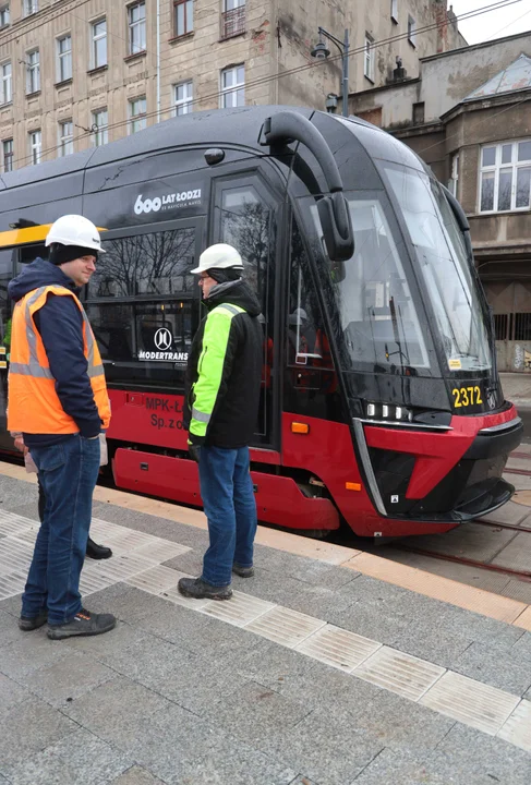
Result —
<path fill-rule="evenodd" d="M 0 478 L 1 509 L 37 520 L 34 486 Z M 167 568 L 201 568 L 200 529 L 104 504 L 94 516 L 191 548 Z M 256 567 L 234 588 L 531 697 L 529 632 L 264 546 Z M 0 602 L 0 784 L 531 782 L 512 744 L 164 595 L 116 582 L 86 605 L 117 629 L 49 641 L 19 631 L 20 595 Z"/>

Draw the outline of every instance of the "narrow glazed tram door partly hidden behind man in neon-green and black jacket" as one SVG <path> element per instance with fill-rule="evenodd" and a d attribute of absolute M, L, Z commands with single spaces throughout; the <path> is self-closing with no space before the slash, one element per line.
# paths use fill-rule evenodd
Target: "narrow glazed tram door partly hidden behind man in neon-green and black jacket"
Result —
<path fill-rule="evenodd" d="M 274 399 L 275 262 L 278 255 L 277 202 L 257 172 L 220 178 L 214 182 L 213 242 L 226 242 L 240 252 L 245 279 L 262 306 L 262 388 L 256 446 L 278 446 Z"/>

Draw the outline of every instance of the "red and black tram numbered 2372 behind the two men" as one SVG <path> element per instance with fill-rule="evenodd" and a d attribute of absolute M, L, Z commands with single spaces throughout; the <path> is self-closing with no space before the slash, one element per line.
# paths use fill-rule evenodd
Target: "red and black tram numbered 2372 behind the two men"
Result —
<path fill-rule="evenodd" d="M 110 390 L 117 487 L 201 506 L 182 428 L 203 307 L 190 270 L 228 242 L 262 303 L 261 520 L 398 536 L 510 498 L 502 473 L 522 425 L 500 387 L 467 218 L 393 136 L 357 118 L 249 107 L 2 176 L 4 397 L 7 282 L 46 255 L 49 225 L 69 213 L 106 230 L 83 299 Z M 4 421 L 0 448 L 12 449 Z"/>

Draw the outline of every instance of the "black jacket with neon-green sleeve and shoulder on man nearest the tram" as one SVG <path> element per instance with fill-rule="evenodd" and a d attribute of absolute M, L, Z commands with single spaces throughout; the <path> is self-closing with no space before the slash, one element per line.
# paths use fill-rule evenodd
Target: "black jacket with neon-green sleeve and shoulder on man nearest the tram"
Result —
<path fill-rule="evenodd" d="M 219 283 L 192 342 L 184 425 L 192 444 L 238 449 L 256 430 L 264 337 L 260 304 L 242 281 Z"/>

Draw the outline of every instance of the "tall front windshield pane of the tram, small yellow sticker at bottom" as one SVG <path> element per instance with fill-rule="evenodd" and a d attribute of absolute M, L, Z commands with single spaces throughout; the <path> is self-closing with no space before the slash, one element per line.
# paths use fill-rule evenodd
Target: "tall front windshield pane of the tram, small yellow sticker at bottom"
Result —
<path fill-rule="evenodd" d="M 449 371 L 491 367 L 488 337 L 462 234 L 439 184 L 385 164 L 413 243 Z"/>

